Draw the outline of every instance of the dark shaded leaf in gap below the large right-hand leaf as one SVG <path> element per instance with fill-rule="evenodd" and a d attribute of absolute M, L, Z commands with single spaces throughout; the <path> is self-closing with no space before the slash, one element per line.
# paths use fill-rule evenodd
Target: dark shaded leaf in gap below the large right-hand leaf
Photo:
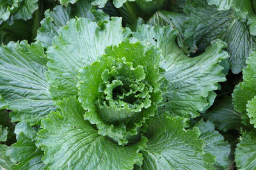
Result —
<path fill-rule="evenodd" d="M 241 116 L 234 110 L 231 97 L 224 97 L 216 101 L 212 109 L 202 114 L 203 117 L 213 122 L 220 131 L 227 132 L 231 129 L 237 131 L 241 127 Z"/>

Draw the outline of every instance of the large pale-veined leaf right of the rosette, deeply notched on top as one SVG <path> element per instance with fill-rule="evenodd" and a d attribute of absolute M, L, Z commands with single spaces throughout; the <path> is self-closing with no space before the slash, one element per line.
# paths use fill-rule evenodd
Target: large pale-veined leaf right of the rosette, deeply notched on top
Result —
<path fill-rule="evenodd" d="M 189 58 L 175 44 L 177 32 L 170 27 L 143 25 L 132 34 L 140 41 L 147 39 L 145 43 L 156 45 L 163 51 L 161 66 L 166 71 L 169 86 L 163 96 L 164 106 L 159 111 L 171 111 L 182 117 L 197 117 L 197 111 L 208 106 L 209 92 L 218 89 L 219 81 L 225 81 L 225 76 L 220 73 L 223 67 L 218 65 L 218 62 L 228 57 L 227 52 L 221 50 L 225 43 L 213 41 L 205 53 Z"/>

